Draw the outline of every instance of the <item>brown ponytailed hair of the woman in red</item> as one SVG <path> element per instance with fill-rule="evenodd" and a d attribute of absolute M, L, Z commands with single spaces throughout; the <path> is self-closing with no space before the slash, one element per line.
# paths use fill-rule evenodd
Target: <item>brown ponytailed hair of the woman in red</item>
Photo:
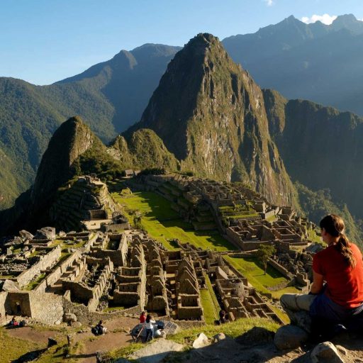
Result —
<path fill-rule="evenodd" d="M 336 214 L 328 214 L 328 216 L 325 216 L 322 220 L 320 220 L 320 228 L 324 228 L 325 231 L 333 237 L 339 237 L 335 248 L 342 254 L 342 257 L 344 257 L 345 261 L 347 261 L 347 264 L 354 268 L 357 261 L 355 260 L 350 248 L 350 240 L 348 240 L 344 233 L 345 226 L 342 218 Z"/>

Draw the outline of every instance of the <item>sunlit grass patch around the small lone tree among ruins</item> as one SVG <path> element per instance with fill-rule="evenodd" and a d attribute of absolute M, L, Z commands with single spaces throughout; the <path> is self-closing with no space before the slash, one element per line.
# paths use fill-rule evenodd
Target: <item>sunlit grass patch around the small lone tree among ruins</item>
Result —
<path fill-rule="evenodd" d="M 272 294 L 273 298 L 279 298 L 282 294 L 286 292 L 298 293 L 299 291 L 294 287 L 287 287 L 285 289 L 280 289 L 278 291 L 270 291 L 267 287 L 277 286 L 288 280 L 282 274 L 280 274 L 276 269 L 267 265 L 267 272 L 264 274 L 264 269 L 257 261 L 257 258 L 238 258 L 224 256 L 226 261 L 238 269 L 238 271 L 243 274 L 247 280 L 255 287 L 257 291 L 262 294 Z"/>

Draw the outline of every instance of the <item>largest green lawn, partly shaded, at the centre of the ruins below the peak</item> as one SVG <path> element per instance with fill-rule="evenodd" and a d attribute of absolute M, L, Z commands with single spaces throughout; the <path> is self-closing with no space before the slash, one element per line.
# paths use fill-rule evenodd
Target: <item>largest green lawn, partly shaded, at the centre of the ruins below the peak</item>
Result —
<path fill-rule="evenodd" d="M 147 230 L 152 238 L 162 242 L 168 250 L 176 250 L 176 247 L 169 242 L 176 238 L 181 242 L 190 242 L 203 250 L 235 250 L 235 247 L 217 230 L 195 231 L 190 223 L 184 222 L 171 208 L 171 203 L 159 194 L 141 191 L 131 196 L 119 193 L 113 193 L 112 196 L 124 206 L 130 223 L 133 222 L 135 211 L 140 211 L 143 214 L 140 221 L 143 229 Z"/>

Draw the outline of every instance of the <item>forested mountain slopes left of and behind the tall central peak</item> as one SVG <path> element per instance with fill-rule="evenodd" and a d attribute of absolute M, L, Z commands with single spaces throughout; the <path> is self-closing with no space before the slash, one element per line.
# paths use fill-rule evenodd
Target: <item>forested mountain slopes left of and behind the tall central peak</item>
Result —
<path fill-rule="evenodd" d="M 48 141 L 65 119 L 81 116 L 105 142 L 140 120 L 177 50 L 153 44 L 122 50 L 112 60 L 50 86 L 0 77 L 0 160 L 13 165 L 2 164 L 0 210 L 33 183 Z"/>

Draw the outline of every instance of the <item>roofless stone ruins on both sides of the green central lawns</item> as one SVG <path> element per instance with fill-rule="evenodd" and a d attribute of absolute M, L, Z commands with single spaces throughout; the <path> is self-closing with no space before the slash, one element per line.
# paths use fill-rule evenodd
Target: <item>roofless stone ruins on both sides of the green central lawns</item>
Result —
<path fill-rule="evenodd" d="M 291 247 L 310 244 L 307 233 L 313 225 L 291 208 L 270 205 L 242 185 L 177 175 L 140 178 L 140 185 L 169 199 L 196 230 L 218 229 L 236 246 L 237 251 L 229 253 L 274 244 L 278 252 L 269 264 L 292 284 L 308 287 L 313 252 Z M 94 179 L 79 180 L 79 185 L 103 188 Z M 83 200 L 82 208 L 89 208 Z M 104 217 L 93 211 L 90 219 Z M 266 299 L 223 259 L 227 252 L 203 251 L 178 240 L 174 243 L 179 250 L 169 251 L 142 231 L 130 230 L 119 212 L 110 223 L 58 235 L 54 228 L 42 228 L 35 236 L 21 231 L 6 240 L 0 255 L 0 313 L 56 323 L 65 313 L 91 321 L 105 318 L 106 308 L 121 315 L 146 308 L 176 320 L 203 321 L 201 291 L 213 289 L 216 308 L 227 311 L 230 320 L 261 316 L 281 322 Z M 125 230 L 120 233 L 110 225 Z"/>

